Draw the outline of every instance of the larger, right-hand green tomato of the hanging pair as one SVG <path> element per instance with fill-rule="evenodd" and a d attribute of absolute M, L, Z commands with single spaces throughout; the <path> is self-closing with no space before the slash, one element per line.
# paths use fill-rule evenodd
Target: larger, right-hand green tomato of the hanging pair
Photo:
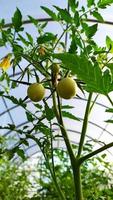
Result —
<path fill-rule="evenodd" d="M 64 99 L 71 99 L 77 93 L 77 84 L 72 78 L 66 77 L 59 81 L 57 85 L 57 92 L 59 96 Z"/>

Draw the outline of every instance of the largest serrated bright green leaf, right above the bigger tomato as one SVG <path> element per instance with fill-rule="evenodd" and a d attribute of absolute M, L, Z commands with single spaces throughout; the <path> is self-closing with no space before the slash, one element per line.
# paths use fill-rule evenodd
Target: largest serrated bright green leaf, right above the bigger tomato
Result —
<path fill-rule="evenodd" d="M 87 91 L 104 95 L 113 91 L 113 82 L 109 70 L 103 73 L 97 63 L 92 65 L 85 56 L 61 53 L 54 54 L 53 57 L 61 60 L 67 69 L 84 81 L 86 83 L 84 88 Z"/>

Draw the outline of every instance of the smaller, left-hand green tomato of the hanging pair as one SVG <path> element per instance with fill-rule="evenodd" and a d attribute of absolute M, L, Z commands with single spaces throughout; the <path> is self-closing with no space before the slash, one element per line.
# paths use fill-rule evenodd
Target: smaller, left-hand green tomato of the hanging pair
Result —
<path fill-rule="evenodd" d="M 33 83 L 28 87 L 27 95 L 34 102 L 41 101 L 45 95 L 45 88 L 40 83 Z"/>

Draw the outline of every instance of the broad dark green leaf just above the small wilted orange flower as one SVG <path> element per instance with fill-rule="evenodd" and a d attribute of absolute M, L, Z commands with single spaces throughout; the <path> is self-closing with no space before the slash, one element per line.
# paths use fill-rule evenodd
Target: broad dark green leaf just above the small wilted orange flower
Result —
<path fill-rule="evenodd" d="M 56 39 L 56 36 L 53 33 L 45 33 L 44 35 L 38 37 L 37 42 L 38 44 L 43 44 L 46 42 L 50 42 Z"/>

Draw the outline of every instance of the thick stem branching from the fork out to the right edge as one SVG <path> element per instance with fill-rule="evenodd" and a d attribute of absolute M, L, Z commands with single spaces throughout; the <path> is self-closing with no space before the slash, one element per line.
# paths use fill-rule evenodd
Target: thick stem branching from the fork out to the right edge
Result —
<path fill-rule="evenodd" d="M 80 160 L 79 160 L 79 161 L 80 161 L 80 164 L 82 164 L 82 163 L 83 163 L 84 161 L 86 161 L 87 159 L 89 159 L 89 158 L 91 158 L 91 157 L 97 155 L 98 153 L 101 153 L 102 151 L 105 151 L 106 149 L 108 149 L 108 148 L 110 148 L 110 147 L 112 147 L 112 146 L 113 146 L 113 142 L 111 142 L 111 143 L 109 143 L 109 144 L 106 144 L 105 146 L 103 146 L 103 147 L 101 147 L 101 148 L 99 148 L 99 149 L 97 149 L 97 150 L 95 150 L 95 151 L 93 151 L 93 152 L 87 154 L 86 156 L 81 157 Z"/>

